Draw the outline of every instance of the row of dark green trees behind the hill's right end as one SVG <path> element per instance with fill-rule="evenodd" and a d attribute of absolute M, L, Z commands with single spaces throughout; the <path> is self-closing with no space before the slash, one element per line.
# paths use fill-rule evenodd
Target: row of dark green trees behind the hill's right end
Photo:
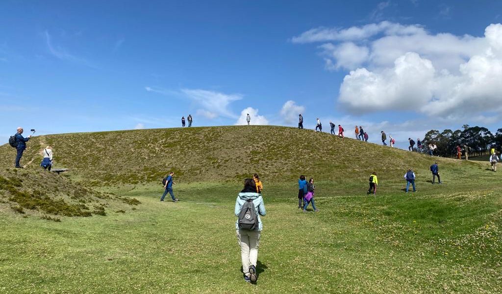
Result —
<path fill-rule="evenodd" d="M 436 144 L 436 155 L 450 157 L 457 153 L 457 146 L 463 150 L 464 145 L 469 147 L 470 156 L 486 155 L 490 148 L 502 149 L 502 128 L 495 134 L 482 126 L 469 126 L 464 124 L 462 130 L 445 129 L 442 132 L 431 129 L 423 139 L 424 152 L 427 152 L 429 143 Z"/>

